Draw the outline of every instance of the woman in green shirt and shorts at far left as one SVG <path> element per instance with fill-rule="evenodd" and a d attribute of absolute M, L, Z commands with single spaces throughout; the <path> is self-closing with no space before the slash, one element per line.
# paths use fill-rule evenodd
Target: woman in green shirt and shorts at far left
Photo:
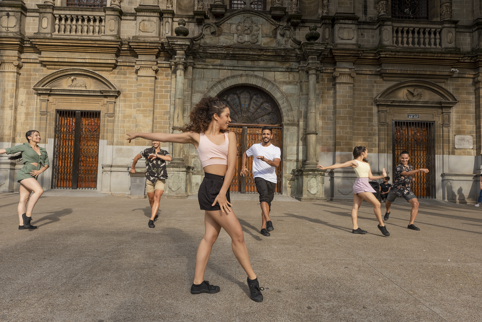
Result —
<path fill-rule="evenodd" d="M 9 157 L 11 160 L 22 158 L 24 167 L 18 171 L 17 181 L 20 182 L 20 202 L 18 203 L 18 218 L 20 224 L 18 229 L 35 229 L 32 226 L 33 207 L 43 194 L 43 189 L 37 181 L 40 173 L 49 168 L 49 157 L 47 150 L 38 146 L 40 142 L 40 133 L 36 130 L 30 130 L 25 134 L 28 143 L 15 145 L 13 148 L 0 149 L 0 154 L 13 154 L 21 152 L 21 154 Z M 33 191 L 33 195 L 30 194 Z M 27 207 L 28 201 L 28 207 Z"/>

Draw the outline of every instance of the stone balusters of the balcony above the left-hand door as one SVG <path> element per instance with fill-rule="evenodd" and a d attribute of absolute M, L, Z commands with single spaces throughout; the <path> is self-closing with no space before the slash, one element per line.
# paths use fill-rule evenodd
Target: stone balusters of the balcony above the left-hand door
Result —
<path fill-rule="evenodd" d="M 98 14 L 54 14 L 54 34 L 100 36 L 105 34 L 106 18 Z"/>

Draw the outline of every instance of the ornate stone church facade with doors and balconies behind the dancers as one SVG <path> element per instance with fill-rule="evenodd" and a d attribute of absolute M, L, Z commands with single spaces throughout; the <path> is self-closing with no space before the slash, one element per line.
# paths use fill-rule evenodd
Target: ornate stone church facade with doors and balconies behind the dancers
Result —
<path fill-rule="evenodd" d="M 316 166 L 364 145 L 375 175 L 407 149 L 430 170 L 418 196 L 473 202 L 481 19 L 482 0 L 0 0 L 0 148 L 37 129 L 44 189 L 129 194 L 150 142 L 125 133 L 177 133 L 211 95 L 231 109 L 240 154 L 273 126 L 278 193 L 350 199 L 351 169 Z M 196 194 L 194 148 L 162 145 L 165 196 Z M 20 168 L 0 156 L 0 191 L 18 191 Z M 235 177 L 233 192 L 253 192 Z"/>

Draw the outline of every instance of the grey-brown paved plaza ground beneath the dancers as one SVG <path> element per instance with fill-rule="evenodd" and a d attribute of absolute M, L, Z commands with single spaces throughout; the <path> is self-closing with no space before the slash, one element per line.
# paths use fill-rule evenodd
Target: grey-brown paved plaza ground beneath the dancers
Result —
<path fill-rule="evenodd" d="M 0 320 L 34 321 L 480 321 L 481 209 L 420 200 L 416 225 L 397 200 L 386 238 L 368 204 L 366 235 L 351 234 L 351 202 L 276 201 L 271 237 L 256 201 L 235 200 L 264 302 L 221 231 L 191 295 L 203 215 L 195 199 L 162 199 L 156 228 L 147 199 L 42 196 L 35 231 L 18 230 L 18 194 L 0 195 Z M 383 205 L 382 205 L 383 206 Z"/>

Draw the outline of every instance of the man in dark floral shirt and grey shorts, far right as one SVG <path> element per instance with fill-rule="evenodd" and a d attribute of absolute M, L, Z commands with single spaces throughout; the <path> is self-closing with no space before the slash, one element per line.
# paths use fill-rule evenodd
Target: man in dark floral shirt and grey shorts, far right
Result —
<path fill-rule="evenodd" d="M 412 166 L 408 165 L 408 160 L 410 160 L 410 155 L 407 151 L 403 151 L 400 154 L 400 164 L 395 168 L 395 181 L 392 184 L 390 192 L 388 193 L 387 202 L 385 207 L 387 207 L 387 212 L 385 212 L 384 220 L 388 220 L 390 215 L 390 206 L 393 201 L 398 196 L 402 196 L 410 204 L 412 204 L 412 210 L 410 211 L 410 222 L 408 224 L 408 229 L 420 230 L 420 228 L 414 225 L 415 217 L 418 213 L 418 200 L 417 197 L 412 192 L 410 183 L 412 182 L 412 176 L 417 172 L 428 173 L 428 169 L 417 169 L 414 170 Z"/>

